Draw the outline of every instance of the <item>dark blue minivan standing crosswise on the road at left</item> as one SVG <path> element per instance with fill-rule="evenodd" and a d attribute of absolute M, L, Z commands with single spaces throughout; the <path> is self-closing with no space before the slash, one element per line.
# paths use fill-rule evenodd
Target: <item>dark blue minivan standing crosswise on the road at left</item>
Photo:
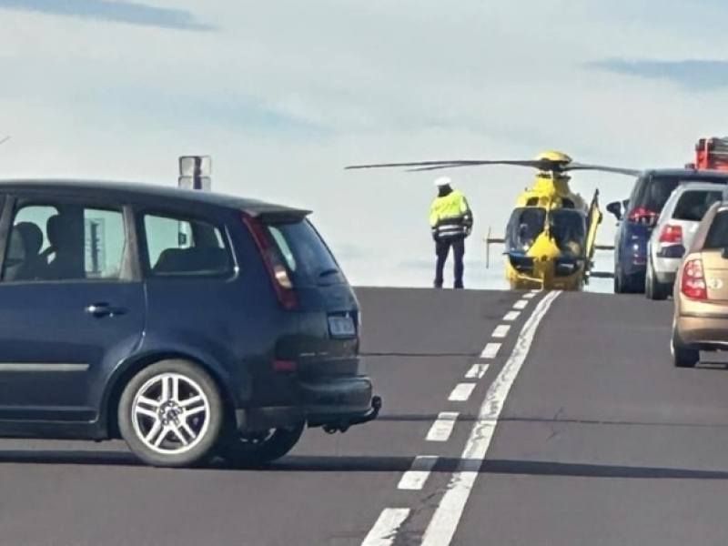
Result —
<path fill-rule="evenodd" d="M 0 436 L 260 463 L 376 419 L 359 302 L 309 211 L 142 184 L 0 182 Z"/>

